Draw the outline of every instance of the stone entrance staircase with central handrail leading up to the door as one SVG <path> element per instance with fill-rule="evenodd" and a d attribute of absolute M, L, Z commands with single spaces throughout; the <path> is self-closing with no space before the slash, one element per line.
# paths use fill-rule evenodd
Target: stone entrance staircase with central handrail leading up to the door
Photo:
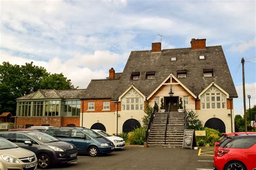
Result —
<path fill-rule="evenodd" d="M 166 119 L 167 112 L 156 113 L 149 133 L 147 146 L 182 147 L 184 137 L 184 112 L 170 112 L 165 144 L 164 136 Z"/>

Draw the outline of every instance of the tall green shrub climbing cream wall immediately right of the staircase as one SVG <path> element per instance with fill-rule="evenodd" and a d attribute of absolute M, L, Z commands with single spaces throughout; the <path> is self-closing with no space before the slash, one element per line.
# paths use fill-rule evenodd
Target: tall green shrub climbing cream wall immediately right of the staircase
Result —
<path fill-rule="evenodd" d="M 200 130 L 202 128 L 202 123 L 198 119 L 198 115 L 194 111 L 187 112 L 187 128 L 191 130 Z"/>

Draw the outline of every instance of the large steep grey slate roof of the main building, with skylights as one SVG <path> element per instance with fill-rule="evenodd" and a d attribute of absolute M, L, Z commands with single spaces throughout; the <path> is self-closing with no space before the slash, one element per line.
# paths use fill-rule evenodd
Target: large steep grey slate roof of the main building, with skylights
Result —
<path fill-rule="evenodd" d="M 205 59 L 199 60 L 199 56 L 205 56 Z M 172 57 L 177 60 L 171 61 Z M 204 77 L 205 69 L 213 69 L 214 77 Z M 179 80 L 196 96 L 214 81 L 230 97 L 238 97 L 222 47 L 208 46 L 205 50 L 183 48 L 161 52 L 132 51 L 113 99 L 118 99 L 132 84 L 145 96 L 149 96 L 170 73 L 177 77 L 177 71 L 183 70 L 187 71 L 187 78 Z M 156 72 L 155 79 L 145 79 L 145 73 L 152 71 Z M 132 72 L 140 72 L 139 80 L 130 80 Z"/>

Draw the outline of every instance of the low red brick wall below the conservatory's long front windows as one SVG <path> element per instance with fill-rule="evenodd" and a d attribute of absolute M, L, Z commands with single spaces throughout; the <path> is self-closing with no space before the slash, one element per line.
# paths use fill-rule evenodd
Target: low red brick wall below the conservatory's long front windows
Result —
<path fill-rule="evenodd" d="M 61 126 L 61 117 L 17 117 L 16 119 L 16 128 L 18 126 Z"/>

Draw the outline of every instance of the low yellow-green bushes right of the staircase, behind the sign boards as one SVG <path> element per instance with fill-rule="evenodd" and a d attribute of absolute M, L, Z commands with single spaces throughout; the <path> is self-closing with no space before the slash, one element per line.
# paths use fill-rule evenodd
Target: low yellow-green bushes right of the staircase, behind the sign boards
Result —
<path fill-rule="evenodd" d="M 196 137 L 198 146 L 214 146 L 215 142 L 222 136 L 218 130 L 213 128 L 204 127 L 203 130 L 206 131 L 206 136 Z"/>

